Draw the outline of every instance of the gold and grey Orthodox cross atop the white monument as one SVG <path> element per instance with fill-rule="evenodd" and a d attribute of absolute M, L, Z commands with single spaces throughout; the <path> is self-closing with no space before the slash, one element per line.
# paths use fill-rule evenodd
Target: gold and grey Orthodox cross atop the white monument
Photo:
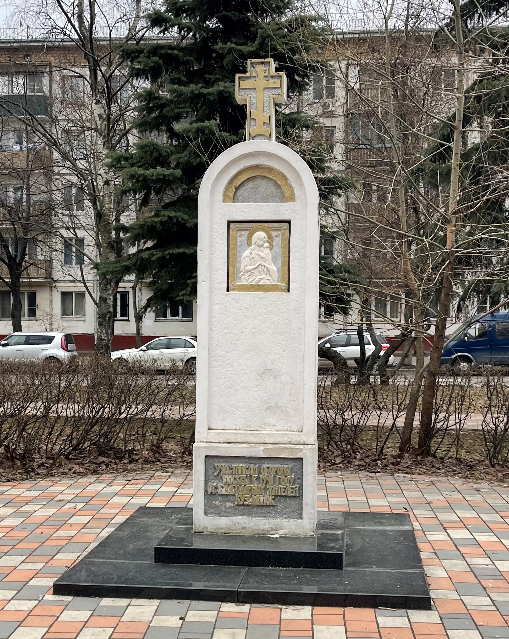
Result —
<path fill-rule="evenodd" d="M 246 139 L 274 140 L 275 104 L 286 102 L 286 75 L 275 72 L 273 59 L 248 60 L 247 73 L 235 76 L 235 96 L 239 104 L 247 104 Z"/>

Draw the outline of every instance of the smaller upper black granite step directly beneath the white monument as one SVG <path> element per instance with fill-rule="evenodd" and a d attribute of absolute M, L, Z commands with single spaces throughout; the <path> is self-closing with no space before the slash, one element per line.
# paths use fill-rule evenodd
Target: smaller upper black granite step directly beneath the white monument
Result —
<path fill-rule="evenodd" d="M 156 544 L 156 564 L 336 570 L 343 567 L 342 516 L 330 520 L 330 526 L 317 530 L 313 537 L 282 537 L 194 533 L 190 514 L 192 512 L 187 512 L 178 518 Z"/>

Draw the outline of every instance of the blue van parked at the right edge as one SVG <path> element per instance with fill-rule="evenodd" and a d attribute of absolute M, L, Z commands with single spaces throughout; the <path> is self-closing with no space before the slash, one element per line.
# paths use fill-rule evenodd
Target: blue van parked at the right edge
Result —
<path fill-rule="evenodd" d="M 440 363 L 459 374 L 482 364 L 509 366 L 509 313 L 494 313 L 475 321 L 444 348 Z"/>

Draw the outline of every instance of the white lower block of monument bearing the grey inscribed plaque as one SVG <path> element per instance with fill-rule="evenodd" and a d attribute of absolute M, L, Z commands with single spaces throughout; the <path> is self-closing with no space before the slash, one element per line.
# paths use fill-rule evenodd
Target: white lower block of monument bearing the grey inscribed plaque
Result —
<path fill-rule="evenodd" d="M 194 532 L 314 535 L 316 447 L 195 443 Z"/>

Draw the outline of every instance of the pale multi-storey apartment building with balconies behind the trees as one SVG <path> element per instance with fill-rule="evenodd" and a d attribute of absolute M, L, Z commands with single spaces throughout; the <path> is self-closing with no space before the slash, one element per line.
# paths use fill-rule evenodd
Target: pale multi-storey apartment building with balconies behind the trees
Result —
<path fill-rule="evenodd" d="M 383 34 L 339 33 L 326 52 L 328 66 L 299 98 L 299 106 L 320 122 L 317 135 L 330 152 L 331 171 L 351 185 L 337 197 L 335 210 L 323 214 L 322 259 L 360 268 L 374 324 L 388 335 L 399 332 L 409 312 L 400 269 L 402 230 L 395 183 L 400 167 L 394 147 L 402 152 L 402 166 L 413 166 L 422 148 L 414 134 L 430 125 L 423 113 L 446 114 L 455 80 L 450 60 L 431 54 L 425 39 L 394 46 L 401 47 L 394 58 L 406 64 L 393 82 L 395 130 L 387 115 Z M 72 151 L 72 162 L 86 163 L 95 152 L 82 130 L 85 77 L 83 57 L 72 43 L 0 40 L 0 224 L 5 237 L 12 235 L 13 256 L 22 250 L 26 254 L 20 275 L 22 327 L 72 332 L 82 350 L 93 348 L 96 330 L 98 282 L 91 261 L 98 259 L 97 225 L 82 185 L 62 158 Z M 118 107 L 127 112 L 134 88 L 123 85 L 120 76 L 118 88 Z M 423 98 L 423 88 L 427 102 L 425 109 L 418 109 L 416 98 Z M 26 118 L 17 117 L 27 112 L 36 115 L 40 125 L 53 127 L 52 148 L 27 127 Z M 119 221 L 135 219 L 132 202 L 124 198 L 116 206 Z M 132 249 L 124 242 L 123 250 Z M 1 265 L 0 334 L 11 331 L 9 281 L 10 272 Z M 121 282 L 114 348 L 134 345 L 133 309 L 150 294 L 147 282 L 135 286 L 130 277 Z M 356 324 L 360 298 L 358 291 L 351 295 L 349 318 L 321 305 L 321 335 Z M 142 321 L 142 339 L 194 335 L 195 316 L 195 304 L 150 309 Z"/>

